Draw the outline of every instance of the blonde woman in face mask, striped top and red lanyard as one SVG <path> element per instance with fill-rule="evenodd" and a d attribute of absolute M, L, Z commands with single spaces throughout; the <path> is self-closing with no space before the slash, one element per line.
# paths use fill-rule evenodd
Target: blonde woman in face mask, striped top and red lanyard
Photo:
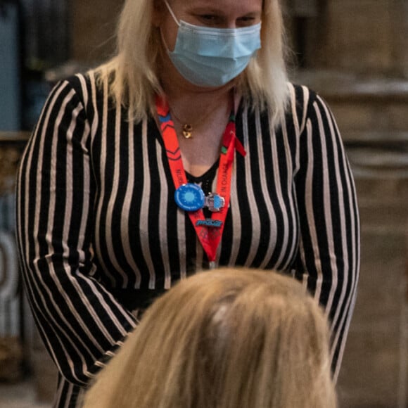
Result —
<path fill-rule="evenodd" d="M 324 101 L 287 82 L 278 0 L 127 0 L 117 55 L 51 91 L 23 155 L 27 290 L 75 407 L 144 309 L 219 266 L 279 269 L 331 322 L 355 304 L 352 174 Z"/>

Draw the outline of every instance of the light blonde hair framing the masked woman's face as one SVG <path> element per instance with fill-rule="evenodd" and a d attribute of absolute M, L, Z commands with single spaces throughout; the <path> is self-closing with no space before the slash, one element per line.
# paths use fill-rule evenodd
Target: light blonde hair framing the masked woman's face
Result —
<path fill-rule="evenodd" d="M 139 122 L 154 113 L 154 95 L 163 94 L 157 74 L 162 40 L 152 24 L 153 0 L 126 0 L 117 27 L 117 54 L 97 69 L 110 96 Z M 279 0 L 264 0 L 262 48 L 238 78 L 238 91 L 253 108 L 269 109 L 279 123 L 288 103 L 283 18 Z"/>

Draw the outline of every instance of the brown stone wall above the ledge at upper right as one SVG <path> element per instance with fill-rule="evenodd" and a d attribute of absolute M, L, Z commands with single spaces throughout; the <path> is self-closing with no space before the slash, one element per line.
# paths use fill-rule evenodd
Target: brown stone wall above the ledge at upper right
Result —
<path fill-rule="evenodd" d="M 318 15 L 307 19 L 307 68 L 408 76 L 408 1 L 319 4 Z"/>

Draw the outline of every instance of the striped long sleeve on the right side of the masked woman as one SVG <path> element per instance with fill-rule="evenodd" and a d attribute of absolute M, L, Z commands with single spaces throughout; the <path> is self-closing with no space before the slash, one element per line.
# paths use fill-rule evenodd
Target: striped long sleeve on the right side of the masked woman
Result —
<path fill-rule="evenodd" d="M 300 219 L 298 279 L 326 310 L 337 378 L 355 305 L 359 274 L 359 215 L 352 172 L 326 103 L 302 88 L 307 115 L 295 179 Z"/>

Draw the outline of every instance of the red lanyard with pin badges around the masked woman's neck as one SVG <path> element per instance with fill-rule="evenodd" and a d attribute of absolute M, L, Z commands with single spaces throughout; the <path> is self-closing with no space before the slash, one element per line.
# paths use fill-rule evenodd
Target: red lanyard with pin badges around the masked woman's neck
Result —
<path fill-rule="evenodd" d="M 170 116 L 170 108 L 165 98 L 156 98 L 156 109 L 160 120 L 162 137 L 165 142 L 167 160 L 169 161 L 174 186 L 177 190 L 180 186 L 188 183 L 186 172 L 184 172 L 183 160 L 181 159 L 177 133 L 174 129 L 174 123 Z M 189 211 L 189 217 L 193 227 L 196 229 L 198 239 L 208 256 L 208 260 L 212 264 L 217 256 L 217 248 L 221 241 L 225 219 L 227 218 L 235 150 L 243 156 L 246 155 L 241 142 L 236 138 L 235 113 L 231 113 L 228 125 L 222 136 L 217 179 L 217 194 L 224 198 L 224 206 L 218 212 L 212 212 L 210 222 L 208 222 L 209 219 L 205 219 L 203 209 Z M 216 227 L 212 227 L 209 224 L 213 224 Z"/>

